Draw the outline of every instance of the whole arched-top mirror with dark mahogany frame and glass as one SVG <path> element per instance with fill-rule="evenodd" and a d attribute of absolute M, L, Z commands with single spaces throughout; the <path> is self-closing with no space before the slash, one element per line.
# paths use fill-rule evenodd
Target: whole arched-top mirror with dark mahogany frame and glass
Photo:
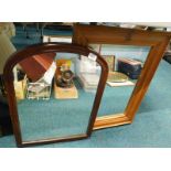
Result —
<path fill-rule="evenodd" d="M 90 136 L 108 67 L 81 45 L 44 43 L 14 53 L 4 84 L 19 147 Z"/>

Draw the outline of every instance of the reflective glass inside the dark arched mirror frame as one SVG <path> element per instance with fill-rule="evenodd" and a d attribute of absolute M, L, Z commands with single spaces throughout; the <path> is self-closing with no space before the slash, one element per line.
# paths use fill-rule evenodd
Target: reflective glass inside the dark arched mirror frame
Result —
<path fill-rule="evenodd" d="M 86 133 L 101 68 L 84 55 L 46 53 L 13 68 L 23 141 Z"/>

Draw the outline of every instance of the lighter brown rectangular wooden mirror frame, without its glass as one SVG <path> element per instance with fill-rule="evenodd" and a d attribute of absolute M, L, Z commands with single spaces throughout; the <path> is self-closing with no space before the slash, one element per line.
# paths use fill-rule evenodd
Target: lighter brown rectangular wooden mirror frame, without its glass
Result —
<path fill-rule="evenodd" d="M 73 43 L 83 46 L 88 46 L 88 44 L 94 43 L 151 47 L 125 111 L 122 114 L 111 114 L 97 117 L 94 130 L 132 122 L 170 39 L 171 32 L 146 31 L 105 25 L 74 25 Z"/>

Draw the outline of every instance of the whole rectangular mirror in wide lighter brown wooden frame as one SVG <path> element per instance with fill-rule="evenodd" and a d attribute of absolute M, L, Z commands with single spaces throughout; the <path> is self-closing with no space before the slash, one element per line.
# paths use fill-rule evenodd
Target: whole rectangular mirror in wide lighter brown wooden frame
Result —
<path fill-rule="evenodd" d="M 90 46 L 109 67 L 94 129 L 132 122 L 170 38 L 170 32 L 74 25 L 73 43 Z"/>

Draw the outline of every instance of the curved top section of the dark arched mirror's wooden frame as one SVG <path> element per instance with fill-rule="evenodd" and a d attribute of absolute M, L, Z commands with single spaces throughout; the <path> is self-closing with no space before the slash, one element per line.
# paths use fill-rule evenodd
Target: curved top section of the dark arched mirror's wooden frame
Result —
<path fill-rule="evenodd" d="M 12 70 L 13 67 L 25 60 L 29 56 L 41 54 L 41 53 L 51 53 L 51 52 L 64 52 L 64 53 L 76 53 L 87 56 L 89 53 L 93 53 L 97 56 L 96 62 L 101 66 L 103 71 L 108 72 L 108 66 L 106 61 L 95 51 L 77 45 L 77 44 L 68 44 L 68 43 L 42 43 L 42 44 L 33 44 L 21 51 L 13 53 L 7 61 L 3 75 L 7 78 L 12 78 Z"/>

